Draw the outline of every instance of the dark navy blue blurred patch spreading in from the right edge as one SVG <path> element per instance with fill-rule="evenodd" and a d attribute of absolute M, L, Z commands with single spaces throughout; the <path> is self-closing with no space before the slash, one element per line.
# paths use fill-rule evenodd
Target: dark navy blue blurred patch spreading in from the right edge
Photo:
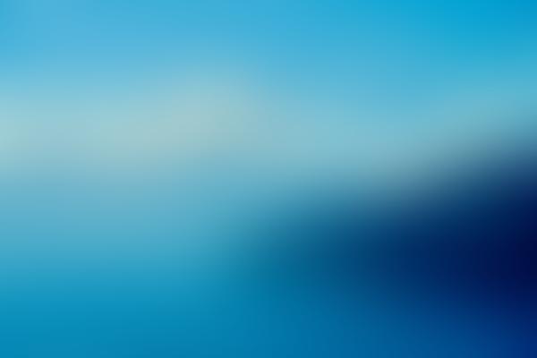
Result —
<path fill-rule="evenodd" d="M 437 330 L 447 339 L 431 344 L 434 353 L 426 353 L 427 342 L 413 342 L 419 351 L 413 356 L 444 356 L 439 351 L 456 349 L 448 341 L 450 329 L 454 336 L 475 329 L 473 334 L 483 337 L 465 342 L 465 353 L 446 356 L 533 356 L 537 162 L 522 157 L 487 160 L 464 179 L 447 180 L 428 200 L 404 206 L 368 207 L 360 195 L 353 204 L 347 193 L 307 205 L 284 226 L 295 244 L 264 248 L 266 259 L 278 263 L 272 268 L 289 286 L 344 293 L 354 297 L 354 312 L 379 304 L 395 321 L 409 315 L 401 320 L 413 322 L 410 330 L 418 337 Z M 364 297 L 375 303 L 363 304 Z M 381 317 L 369 317 L 365 326 Z M 384 327 L 386 342 L 401 334 L 396 327 Z M 442 327 L 446 331 L 439 333 Z M 406 356 L 405 345 L 398 344 L 395 356 Z"/>

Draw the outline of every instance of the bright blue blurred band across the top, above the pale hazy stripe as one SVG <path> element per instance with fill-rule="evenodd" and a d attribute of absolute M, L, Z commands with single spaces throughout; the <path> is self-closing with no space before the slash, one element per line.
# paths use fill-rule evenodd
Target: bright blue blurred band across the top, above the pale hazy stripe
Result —
<path fill-rule="evenodd" d="M 508 76 L 524 64 L 534 72 L 530 1 L 23 0 L 1 9 L 4 75 L 30 83 L 93 78 L 107 87 L 231 67 L 334 100 L 358 92 L 415 102 L 452 82 Z"/>

